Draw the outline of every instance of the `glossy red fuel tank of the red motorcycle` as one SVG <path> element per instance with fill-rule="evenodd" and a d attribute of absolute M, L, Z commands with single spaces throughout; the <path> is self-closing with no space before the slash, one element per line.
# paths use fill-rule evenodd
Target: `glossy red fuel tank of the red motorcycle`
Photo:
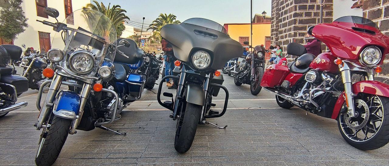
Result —
<path fill-rule="evenodd" d="M 335 59 L 336 57 L 331 52 L 321 53 L 311 62 L 309 68 L 329 73 L 338 73 L 339 67 L 334 63 Z"/>

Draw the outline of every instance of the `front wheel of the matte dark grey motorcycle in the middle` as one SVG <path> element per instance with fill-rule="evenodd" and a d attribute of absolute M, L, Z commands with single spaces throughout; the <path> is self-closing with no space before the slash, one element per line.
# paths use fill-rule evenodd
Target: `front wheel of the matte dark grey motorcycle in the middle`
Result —
<path fill-rule="evenodd" d="M 185 153 L 191 148 L 196 135 L 197 124 L 200 119 L 202 106 L 187 103 L 185 110 L 181 111 L 177 118 L 177 128 L 175 131 L 174 148 L 179 153 Z"/>

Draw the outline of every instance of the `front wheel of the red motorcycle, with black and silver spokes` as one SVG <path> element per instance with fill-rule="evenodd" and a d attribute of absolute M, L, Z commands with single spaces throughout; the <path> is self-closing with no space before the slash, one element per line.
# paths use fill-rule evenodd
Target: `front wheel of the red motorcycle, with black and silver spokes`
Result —
<path fill-rule="evenodd" d="M 374 150 L 389 142 L 389 98 L 359 93 L 354 98 L 357 117 L 347 114 L 344 104 L 338 128 L 347 143 L 360 150 Z"/>

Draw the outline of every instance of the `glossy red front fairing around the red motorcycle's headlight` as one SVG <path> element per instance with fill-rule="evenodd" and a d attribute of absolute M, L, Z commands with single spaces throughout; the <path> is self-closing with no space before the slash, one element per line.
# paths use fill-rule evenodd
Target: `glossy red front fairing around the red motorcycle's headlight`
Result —
<path fill-rule="evenodd" d="M 355 31 L 352 28 L 368 29 L 373 31 L 375 35 Z M 312 35 L 324 42 L 334 55 L 342 59 L 358 60 L 363 48 L 370 45 L 381 48 L 382 61 L 385 58 L 385 54 L 389 53 L 389 37 L 371 26 L 349 22 L 332 22 L 316 25 Z"/>

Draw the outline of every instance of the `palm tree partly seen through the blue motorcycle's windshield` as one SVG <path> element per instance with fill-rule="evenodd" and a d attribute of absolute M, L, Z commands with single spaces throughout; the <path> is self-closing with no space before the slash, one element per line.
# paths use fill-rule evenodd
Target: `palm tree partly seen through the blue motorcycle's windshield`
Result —
<path fill-rule="evenodd" d="M 109 3 L 108 7 L 106 7 L 103 2 L 99 4 L 96 0 L 94 0 L 93 3 L 95 4 L 88 3 L 84 8 L 97 10 L 105 14 L 105 16 L 107 16 L 112 21 L 112 24 L 116 27 L 117 38 L 119 38 L 124 31 L 123 22 L 130 20 L 130 18 L 124 14 L 127 11 L 121 9 L 120 5 L 113 5 L 110 7 L 111 3 Z"/>

